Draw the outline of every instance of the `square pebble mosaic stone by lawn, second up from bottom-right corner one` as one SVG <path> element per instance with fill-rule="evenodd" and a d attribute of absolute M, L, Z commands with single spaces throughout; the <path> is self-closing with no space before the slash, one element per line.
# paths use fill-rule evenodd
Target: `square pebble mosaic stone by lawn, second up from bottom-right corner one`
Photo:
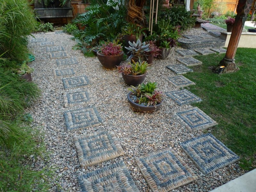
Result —
<path fill-rule="evenodd" d="M 211 117 L 206 115 L 199 108 L 188 108 L 178 111 L 174 116 L 191 131 L 208 129 L 212 126 L 217 125 L 217 123 L 212 120 Z"/>

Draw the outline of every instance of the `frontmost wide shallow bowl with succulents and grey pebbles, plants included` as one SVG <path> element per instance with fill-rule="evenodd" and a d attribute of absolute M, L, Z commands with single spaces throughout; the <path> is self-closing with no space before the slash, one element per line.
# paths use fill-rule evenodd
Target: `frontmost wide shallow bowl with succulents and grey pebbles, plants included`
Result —
<path fill-rule="evenodd" d="M 140 84 L 138 87 L 132 86 L 127 95 L 129 103 L 133 108 L 140 111 L 154 111 L 158 109 L 164 101 L 163 91 L 158 91 L 156 82 Z"/>

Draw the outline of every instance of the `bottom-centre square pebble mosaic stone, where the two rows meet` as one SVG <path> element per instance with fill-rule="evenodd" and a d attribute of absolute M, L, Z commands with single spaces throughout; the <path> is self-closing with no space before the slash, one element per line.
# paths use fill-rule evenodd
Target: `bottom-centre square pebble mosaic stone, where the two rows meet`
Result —
<path fill-rule="evenodd" d="M 165 192 L 197 179 L 195 173 L 171 148 L 135 157 L 152 192 Z"/>

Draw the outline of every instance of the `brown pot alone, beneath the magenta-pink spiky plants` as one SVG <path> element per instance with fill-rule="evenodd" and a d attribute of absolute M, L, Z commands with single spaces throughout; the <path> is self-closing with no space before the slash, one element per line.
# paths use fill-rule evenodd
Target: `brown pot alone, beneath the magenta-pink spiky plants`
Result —
<path fill-rule="evenodd" d="M 105 56 L 99 51 L 97 52 L 98 59 L 100 63 L 103 65 L 103 67 L 111 69 L 115 68 L 117 65 L 120 65 L 120 63 L 123 60 L 124 52 L 122 51 L 120 55 L 115 55 L 115 56 Z"/>

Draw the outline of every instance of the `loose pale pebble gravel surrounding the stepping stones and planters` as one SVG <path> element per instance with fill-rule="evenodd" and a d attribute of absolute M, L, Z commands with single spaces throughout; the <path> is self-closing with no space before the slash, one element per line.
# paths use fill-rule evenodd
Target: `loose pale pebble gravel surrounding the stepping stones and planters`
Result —
<path fill-rule="evenodd" d="M 187 32 L 187 34 L 193 35 L 199 33 L 206 32 L 202 29 L 191 29 Z M 72 50 L 76 43 L 70 39 L 71 36 L 68 34 L 58 32 L 33 35 L 36 38 L 47 37 L 48 41 L 62 45 L 69 56 L 76 57 L 79 63 L 73 66 L 76 69 L 76 76 L 86 75 L 88 77 L 90 84 L 85 89 L 92 93 L 94 106 L 98 109 L 104 122 L 100 126 L 87 130 L 66 131 L 63 112 L 83 106 L 64 107 L 63 92 L 66 91 L 61 78 L 54 77 L 53 69 L 70 67 L 57 67 L 56 61 L 50 60 L 46 47 L 39 46 L 39 43 L 30 43 L 28 47 L 36 56 L 36 60 L 31 65 L 35 68 L 32 78 L 42 90 L 42 97 L 27 111 L 34 118 L 33 127 L 42 127 L 42 131 L 45 133 L 44 141 L 47 151 L 50 152 L 49 159 L 36 159 L 32 168 L 35 170 L 41 170 L 44 167 L 55 168 L 56 181 L 53 181 L 50 191 L 79 191 L 76 179 L 78 175 L 120 160 L 126 164 L 139 190 L 151 191 L 134 158 L 166 147 L 172 147 L 198 176 L 198 180 L 172 191 L 210 191 L 244 174 L 244 171 L 236 163 L 204 175 L 182 151 L 180 142 L 203 134 L 202 131 L 188 132 L 185 126 L 173 117 L 175 111 L 189 108 L 190 105 L 178 106 L 173 100 L 166 98 L 164 105 L 156 112 L 136 112 L 127 101 L 128 86 L 124 84 L 122 76 L 117 73 L 116 69 L 102 68 L 97 58 L 85 58 L 79 50 Z M 149 70 L 145 81 L 156 81 L 158 88 L 164 92 L 177 90 L 165 79 L 175 75 L 165 66 L 177 63 L 176 59 L 179 57 L 180 55 L 174 52 L 168 60 L 154 60 L 153 67 Z M 73 136 L 98 130 L 115 132 L 125 155 L 96 166 L 90 166 L 88 169 L 81 168 Z M 211 129 L 205 132 L 211 132 Z M 63 189 L 60 190 L 57 184 L 61 185 Z"/>

